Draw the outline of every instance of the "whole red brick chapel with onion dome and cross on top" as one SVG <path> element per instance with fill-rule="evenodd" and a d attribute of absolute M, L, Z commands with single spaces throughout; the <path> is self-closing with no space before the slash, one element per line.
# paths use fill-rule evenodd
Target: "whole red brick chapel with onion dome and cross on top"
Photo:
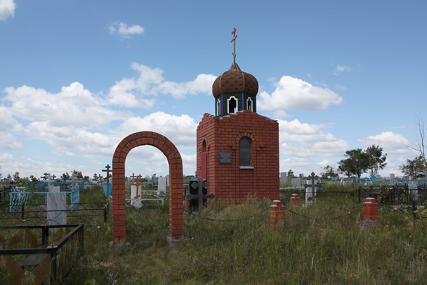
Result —
<path fill-rule="evenodd" d="M 197 177 L 220 201 L 279 199 L 279 124 L 256 113 L 258 81 L 233 55 L 212 85 L 215 115 L 204 114 L 197 126 Z"/>

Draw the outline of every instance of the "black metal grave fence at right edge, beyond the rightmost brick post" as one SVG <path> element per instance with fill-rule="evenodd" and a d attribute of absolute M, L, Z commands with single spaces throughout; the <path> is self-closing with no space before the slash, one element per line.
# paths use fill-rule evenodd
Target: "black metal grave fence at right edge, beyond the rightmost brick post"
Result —
<path fill-rule="evenodd" d="M 408 185 L 359 186 L 359 202 L 367 197 L 391 205 L 410 205 L 413 200 L 427 200 L 427 185 L 417 185 L 410 189 Z"/>

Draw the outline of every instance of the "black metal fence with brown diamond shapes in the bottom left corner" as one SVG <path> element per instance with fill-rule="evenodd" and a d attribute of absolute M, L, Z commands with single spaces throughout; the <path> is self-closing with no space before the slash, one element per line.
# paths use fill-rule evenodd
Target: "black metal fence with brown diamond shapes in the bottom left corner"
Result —
<path fill-rule="evenodd" d="M 0 272 L 4 271 L 1 272 L 4 274 L 0 274 L 0 283 L 23 284 L 28 283 L 29 279 L 39 284 L 62 283 L 83 255 L 83 229 L 82 224 L 0 227 L 0 232 L 7 230 L 9 233 L 8 239 L 2 237 L 4 249 L 0 249 L 0 255 L 5 256 L 6 264 L 4 270 L 0 269 Z M 50 233 L 54 230 L 56 233 Z M 15 234 L 11 235 L 11 232 Z M 37 247 L 39 239 L 40 248 Z M 25 243 L 21 245 L 23 241 Z"/>

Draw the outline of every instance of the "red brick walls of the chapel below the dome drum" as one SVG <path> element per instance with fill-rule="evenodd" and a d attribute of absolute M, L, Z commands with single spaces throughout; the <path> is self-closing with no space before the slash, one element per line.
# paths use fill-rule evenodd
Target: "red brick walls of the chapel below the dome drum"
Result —
<path fill-rule="evenodd" d="M 239 168 L 239 141 L 252 141 L 254 169 Z M 217 118 L 204 114 L 197 127 L 197 175 L 203 140 L 207 151 L 208 192 L 218 200 L 239 203 L 248 197 L 279 199 L 279 124 L 249 110 Z M 219 152 L 232 152 L 231 164 L 219 163 Z"/>

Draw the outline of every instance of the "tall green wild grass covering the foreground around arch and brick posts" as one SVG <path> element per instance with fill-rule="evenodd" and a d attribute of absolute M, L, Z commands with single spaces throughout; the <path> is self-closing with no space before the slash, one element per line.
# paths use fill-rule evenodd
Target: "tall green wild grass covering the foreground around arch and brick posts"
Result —
<path fill-rule="evenodd" d="M 111 217 L 85 227 L 85 254 L 67 283 L 427 283 L 427 221 L 414 222 L 409 209 L 380 205 L 380 224 L 367 226 L 361 204 L 351 199 L 318 199 L 309 207 L 285 203 L 297 214 L 286 211 L 285 228 L 272 229 L 264 211 L 269 204 L 213 202 L 200 217 L 185 213 L 185 239 L 172 247 L 167 201 L 162 209 L 128 208 L 130 243 L 109 247 Z"/>

